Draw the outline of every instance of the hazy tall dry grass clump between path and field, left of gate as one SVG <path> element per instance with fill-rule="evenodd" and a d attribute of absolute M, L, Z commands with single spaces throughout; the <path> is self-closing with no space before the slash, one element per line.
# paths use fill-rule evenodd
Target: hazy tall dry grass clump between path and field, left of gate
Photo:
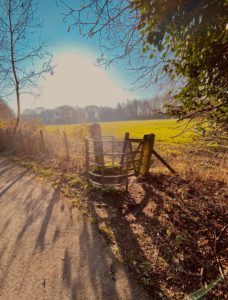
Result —
<path fill-rule="evenodd" d="M 0 151 L 4 155 L 30 159 L 50 167 L 71 165 L 75 170 L 83 170 L 87 125 L 75 126 L 70 133 L 58 128 L 49 130 L 38 121 L 24 121 L 14 133 L 13 125 L 13 121 L 0 123 Z"/>

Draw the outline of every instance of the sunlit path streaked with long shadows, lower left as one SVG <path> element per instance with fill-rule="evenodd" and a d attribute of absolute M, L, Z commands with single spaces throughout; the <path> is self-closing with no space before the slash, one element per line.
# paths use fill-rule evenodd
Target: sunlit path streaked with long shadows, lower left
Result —
<path fill-rule="evenodd" d="M 148 299 L 50 184 L 0 158 L 0 299 Z"/>

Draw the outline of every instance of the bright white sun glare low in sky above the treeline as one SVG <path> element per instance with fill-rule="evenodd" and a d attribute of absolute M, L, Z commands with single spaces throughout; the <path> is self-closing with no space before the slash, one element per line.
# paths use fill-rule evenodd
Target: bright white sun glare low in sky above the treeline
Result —
<path fill-rule="evenodd" d="M 116 83 L 105 69 L 82 53 L 65 51 L 53 59 L 56 67 L 40 83 L 41 93 L 36 101 L 28 95 L 22 99 L 24 108 L 60 105 L 84 107 L 87 105 L 115 106 L 132 98 L 130 92 Z"/>

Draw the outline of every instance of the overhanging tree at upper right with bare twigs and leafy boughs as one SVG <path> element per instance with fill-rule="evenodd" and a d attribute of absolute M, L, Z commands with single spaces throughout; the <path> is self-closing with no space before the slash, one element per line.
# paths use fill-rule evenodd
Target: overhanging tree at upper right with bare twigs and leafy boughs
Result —
<path fill-rule="evenodd" d="M 134 87 L 159 82 L 172 96 L 170 113 L 227 142 L 226 0 L 59 1 L 69 30 L 99 39 L 99 62 L 123 59 L 138 75 Z"/>

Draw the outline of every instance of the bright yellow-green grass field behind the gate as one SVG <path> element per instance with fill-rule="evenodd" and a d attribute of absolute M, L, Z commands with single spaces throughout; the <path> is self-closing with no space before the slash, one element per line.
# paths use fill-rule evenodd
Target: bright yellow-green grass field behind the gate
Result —
<path fill-rule="evenodd" d="M 157 142 L 167 144 L 186 144 L 192 141 L 196 133 L 188 128 L 182 133 L 184 123 L 177 123 L 176 120 L 143 120 L 143 121 L 121 121 L 100 123 L 103 135 L 113 135 L 118 139 L 123 139 L 124 133 L 129 132 L 131 137 L 142 138 L 144 134 L 154 133 Z M 85 126 L 87 126 L 85 124 Z M 46 129 L 49 132 L 55 130 L 65 131 L 72 134 L 80 130 L 82 125 L 49 125 Z M 181 134 L 182 133 L 182 134 Z"/>

